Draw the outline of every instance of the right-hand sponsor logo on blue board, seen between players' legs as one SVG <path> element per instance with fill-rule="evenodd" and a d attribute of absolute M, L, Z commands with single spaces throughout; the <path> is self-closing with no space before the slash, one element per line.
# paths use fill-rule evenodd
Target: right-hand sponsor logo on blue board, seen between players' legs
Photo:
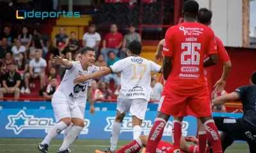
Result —
<path fill-rule="evenodd" d="M 115 122 L 115 117 L 107 117 L 106 120 L 107 120 L 108 124 L 104 128 L 104 131 L 111 132 L 113 122 Z M 152 122 L 151 120 L 143 120 L 143 122 L 141 124 L 143 135 L 149 135 L 150 130 L 153 126 L 153 123 L 154 122 Z M 164 127 L 163 136 L 172 136 L 172 122 L 170 120 L 168 120 L 168 122 L 166 122 L 165 125 L 166 126 Z M 182 136 L 188 135 L 188 127 L 189 127 L 189 123 L 187 121 L 183 121 L 182 122 Z M 122 132 L 132 132 L 132 118 L 131 117 L 124 117 L 120 132 L 121 133 Z"/>

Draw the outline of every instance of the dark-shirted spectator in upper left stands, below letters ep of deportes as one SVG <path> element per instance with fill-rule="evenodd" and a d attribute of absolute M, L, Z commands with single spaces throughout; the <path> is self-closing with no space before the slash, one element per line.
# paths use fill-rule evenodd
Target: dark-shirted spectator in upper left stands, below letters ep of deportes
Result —
<path fill-rule="evenodd" d="M 50 46 L 49 36 L 46 34 L 41 34 L 40 30 L 35 29 L 33 35 L 34 47 L 37 49 L 42 48 L 42 57 L 45 57 L 48 53 L 48 48 Z"/>

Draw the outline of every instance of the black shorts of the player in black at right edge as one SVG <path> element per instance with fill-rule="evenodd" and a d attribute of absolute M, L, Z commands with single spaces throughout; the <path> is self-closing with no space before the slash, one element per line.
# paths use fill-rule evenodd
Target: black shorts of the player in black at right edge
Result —
<path fill-rule="evenodd" d="M 235 140 L 255 143 L 256 146 L 256 127 L 244 118 L 213 117 L 213 119 L 219 131 L 227 133 Z"/>

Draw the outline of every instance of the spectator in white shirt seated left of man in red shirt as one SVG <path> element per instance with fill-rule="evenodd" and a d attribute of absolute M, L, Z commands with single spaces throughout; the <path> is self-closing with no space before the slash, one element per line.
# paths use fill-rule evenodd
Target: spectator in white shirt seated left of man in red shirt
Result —
<path fill-rule="evenodd" d="M 95 50 L 95 57 L 98 57 L 99 45 L 101 41 L 100 34 L 95 32 L 96 27 L 94 24 L 89 26 L 88 32 L 83 36 L 83 47 L 91 47 Z"/>

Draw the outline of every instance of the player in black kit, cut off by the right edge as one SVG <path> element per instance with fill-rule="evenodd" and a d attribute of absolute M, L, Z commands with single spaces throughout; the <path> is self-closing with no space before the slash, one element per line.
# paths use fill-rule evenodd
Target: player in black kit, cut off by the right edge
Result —
<path fill-rule="evenodd" d="M 256 152 L 256 71 L 252 73 L 250 85 L 239 87 L 236 91 L 212 100 L 212 105 L 222 105 L 228 101 L 241 101 L 243 117 L 214 117 L 218 130 L 222 131 L 223 152 L 234 140 L 246 141 L 250 152 Z M 223 135 L 224 134 L 224 135 Z"/>

